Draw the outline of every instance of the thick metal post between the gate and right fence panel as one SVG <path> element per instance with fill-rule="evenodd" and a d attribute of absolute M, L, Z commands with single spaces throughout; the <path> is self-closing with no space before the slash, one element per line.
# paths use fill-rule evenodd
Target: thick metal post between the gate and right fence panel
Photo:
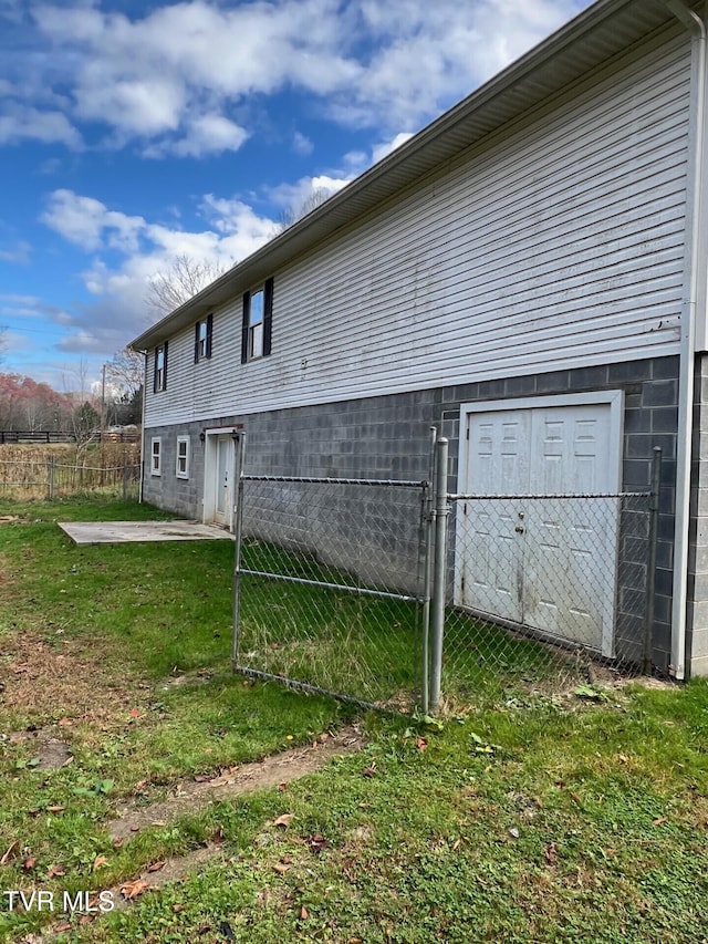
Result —
<path fill-rule="evenodd" d="M 442 436 L 436 444 L 435 464 L 435 562 L 433 568 L 433 600 L 430 604 L 430 712 L 440 705 L 442 682 L 442 636 L 445 632 L 445 591 L 447 587 L 447 500 L 448 440 Z"/>

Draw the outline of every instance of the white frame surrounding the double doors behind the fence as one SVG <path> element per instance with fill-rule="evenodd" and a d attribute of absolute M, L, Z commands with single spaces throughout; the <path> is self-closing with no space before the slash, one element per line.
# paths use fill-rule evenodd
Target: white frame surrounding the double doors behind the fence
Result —
<path fill-rule="evenodd" d="M 549 396 L 513 397 L 509 400 L 487 400 L 460 404 L 457 491 L 465 492 L 470 465 L 468 440 L 469 419 L 473 414 L 511 412 L 514 409 L 543 409 L 563 406 L 610 406 L 610 442 L 607 444 L 607 465 L 610 470 L 610 492 L 622 490 L 622 461 L 624 455 L 624 392 L 622 390 L 590 391 L 587 393 L 553 394 Z M 620 538 L 617 529 L 617 540 Z M 459 540 L 459 538 L 458 538 Z M 617 585 L 618 548 L 615 549 L 615 591 Z M 454 603 L 462 605 L 464 556 L 460 548 L 455 549 Z M 616 600 L 613 600 L 613 613 Z M 501 620 L 500 622 L 503 622 Z M 604 621 L 603 621 L 604 622 Z M 614 620 L 612 621 L 614 623 Z M 603 625 L 602 654 L 614 653 L 614 625 Z"/>

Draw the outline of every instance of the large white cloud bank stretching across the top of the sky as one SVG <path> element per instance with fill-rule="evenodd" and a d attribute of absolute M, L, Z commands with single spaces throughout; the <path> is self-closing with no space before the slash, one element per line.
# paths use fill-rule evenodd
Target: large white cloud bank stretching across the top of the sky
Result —
<path fill-rule="evenodd" d="M 30 97 L 61 89 L 70 104 L 28 115 L 24 125 L 6 120 L 0 135 L 32 133 L 77 147 L 69 115 L 106 127 L 114 147 L 136 139 L 152 156 L 201 157 L 243 144 L 249 128 L 229 117 L 235 107 L 248 113 L 254 95 L 285 89 L 314 96 L 344 125 L 412 132 L 584 6 L 184 0 L 131 19 L 94 3 L 48 3 L 33 15 L 39 41 L 61 51 L 52 74 L 42 76 L 40 65 L 28 80 L 15 56 L 3 81 L 30 82 Z M 292 147 L 309 153 L 308 138 L 295 133 Z"/>

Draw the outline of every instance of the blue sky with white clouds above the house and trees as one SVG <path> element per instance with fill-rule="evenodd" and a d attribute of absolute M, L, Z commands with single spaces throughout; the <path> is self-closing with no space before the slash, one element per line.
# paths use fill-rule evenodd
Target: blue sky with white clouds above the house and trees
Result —
<path fill-rule="evenodd" d="M 226 268 L 587 0 L 0 0 L 0 371 L 90 388 L 178 256 Z"/>

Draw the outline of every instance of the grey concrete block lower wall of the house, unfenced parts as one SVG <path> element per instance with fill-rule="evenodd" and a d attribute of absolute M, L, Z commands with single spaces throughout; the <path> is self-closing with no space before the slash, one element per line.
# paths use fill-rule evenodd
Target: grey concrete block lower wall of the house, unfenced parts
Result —
<path fill-rule="evenodd" d="M 454 491 L 457 490 L 461 404 L 604 390 L 622 390 L 625 394 L 623 489 L 647 490 L 653 447 L 658 445 L 664 453 L 653 640 L 654 663 L 664 671 L 670 652 L 677 356 L 481 381 L 249 416 L 220 416 L 210 418 L 208 423 L 147 429 L 146 455 L 150 437 L 162 436 L 164 471 L 155 478 L 149 475 L 149 467 L 146 469 L 144 499 L 181 515 L 201 518 L 204 445 L 199 435 L 206 427 L 238 423 L 243 424 L 247 430 L 247 464 L 251 474 L 385 479 L 428 477 L 430 426 L 437 426 L 440 435 L 450 440 L 449 486 Z M 190 438 L 189 481 L 175 477 L 175 449 L 179 435 Z M 706 488 L 708 494 L 708 481 Z M 708 533 L 708 502 L 706 530 Z M 634 615 L 639 619 L 637 613 Z M 638 623 L 635 622 L 635 626 Z M 634 644 L 636 639 L 628 642 Z"/>

